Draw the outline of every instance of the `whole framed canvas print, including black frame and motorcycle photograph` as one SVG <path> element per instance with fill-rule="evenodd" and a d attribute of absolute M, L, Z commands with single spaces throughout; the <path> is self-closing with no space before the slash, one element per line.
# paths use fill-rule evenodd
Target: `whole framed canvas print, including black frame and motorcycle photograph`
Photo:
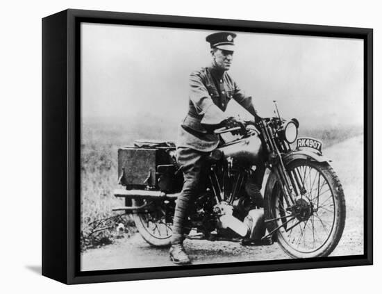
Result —
<path fill-rule="evenodd" d="M 372 29 L 42 19 L 42 274 L 372 264 Z"/>

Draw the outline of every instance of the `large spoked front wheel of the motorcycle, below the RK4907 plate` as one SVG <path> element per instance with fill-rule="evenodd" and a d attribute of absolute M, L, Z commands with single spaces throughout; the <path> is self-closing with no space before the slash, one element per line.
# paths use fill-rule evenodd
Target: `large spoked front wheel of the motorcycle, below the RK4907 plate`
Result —
<path fill-rule="evenodd" d="M 346 208 L 342 185 L 328 163 L 297 159 L 286 167 L 294 186 L 303 191 L 289 203 L 274 173 L 265 190 L 269 231 L 276 230 L 281 248 L 293 258 L 329 256 L 344 230 Z"/>

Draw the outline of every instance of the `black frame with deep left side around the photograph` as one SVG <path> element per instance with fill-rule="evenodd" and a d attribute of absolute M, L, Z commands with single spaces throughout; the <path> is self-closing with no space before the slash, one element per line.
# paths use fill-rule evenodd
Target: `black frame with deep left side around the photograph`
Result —
<path fill-rule="evenodd" d="M 79 270 L 81 22 L 362 39 L 365 65 L 364 254 L 307 260 L 290 259 L 81 272 Z M 42 275 L 65 284 L 83 284 L 371 265 L 373 262 L 372 97 L 373 31 L 371 28 L 72 9 L 45 17 L 42 19 Z"/>

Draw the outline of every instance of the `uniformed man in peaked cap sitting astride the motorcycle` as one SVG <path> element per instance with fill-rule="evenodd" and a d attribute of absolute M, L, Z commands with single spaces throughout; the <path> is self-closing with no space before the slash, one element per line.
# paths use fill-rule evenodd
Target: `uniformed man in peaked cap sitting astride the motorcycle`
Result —
<path fill-rule="evenodd" d="M 176 143 L 176 159 L 183 172 L 184 184 L 176 201 L 169 255 L 177 264 L 190 263 L 183 248 L 183 227 L 188 218 L 190 204 L 205 188 L 204 174 L 208 172 L 206 157 L 219 145 L 219 136 L 213 133 L 213 129 L 221 126 L 242 126 L 224 113 L 231 99 L 235 99 L 249 113 L 256 115 L 252 98 L 244 95 L 227 73 L 232 64 L 235 37 L 235 33 L 226 32 L 208 35 L 206 41 L 210 43 L 212 64 L 190 75 L 188 114 L 179 128 Z M 247 191 L 254 204 L 260 207 L 263 207 L 260 189 L 264 172 L 264 167 L 256 168 L 249 179 L 253 184 L 250 191 Z"/>

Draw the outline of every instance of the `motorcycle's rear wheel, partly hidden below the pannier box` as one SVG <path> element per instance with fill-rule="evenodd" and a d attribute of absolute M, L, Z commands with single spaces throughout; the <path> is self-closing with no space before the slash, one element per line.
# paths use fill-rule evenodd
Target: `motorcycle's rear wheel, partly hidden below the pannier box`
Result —
<path fill-rule="evenodd" d="M 133 200 L 134 206 L 146 204 L 147 200 Z M 147 243 L 156 247 L 171 245 L 172 221 L 168 220 L 165 206 L 151 205 L 144 213 L 133 213 L 135 227 Z"/>

